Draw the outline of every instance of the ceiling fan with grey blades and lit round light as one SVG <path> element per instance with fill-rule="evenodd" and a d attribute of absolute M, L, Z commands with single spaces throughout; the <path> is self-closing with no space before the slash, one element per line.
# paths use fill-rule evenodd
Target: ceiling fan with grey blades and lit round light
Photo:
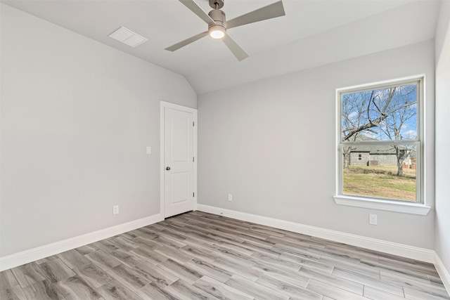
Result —
<path fill-rule="evenodd" d="M 250 13 L 245 13 L 244 15 L 240 15 L 237 18 L 226 21 L 225 13 L 221 11 L 220 8 L 224 7 L 224 0 L 209 0 L 210 6 L 212 7 L 212 11 L 210 13 L 206 13 L 203 11 L 194 0 L 179 0 L 182 4 L 184 4 L 187 8 L 189 8 L 195 15 L 198 15 L 202 20 L 204 20 L 208 25 L 208 30 L 202 32 L 200 34 L 196 34 L 193 37 L 185 39 L 184 41 L 180 41 L 172 46 L 165 48 L 168 51 L 176 51 L 181 47 L 184 47 L 188 44 L 201 39 L 202 37 L 206 37 L 210 35 L 213 39 L 222 39 L 226 46 L 230 49 L 230 51 L 238 58 L 238 60 L 243 60 L 248 58 L 248 54 L 243 51 L 238 44 L 236 44 L 228 34 L 226 34 L 226 30 L 229 30 L 233 27 L 238 27 L 242 25 L 247 25 L 253 22 L 259 22 L 262 20 L 267 20 L 271 18 L 281 17 L 285 15 L 283 2 L 278 1 L 274 4 L 269 4 L 268 6 L 264 6 L 255 11 L 251 11 Z"/>

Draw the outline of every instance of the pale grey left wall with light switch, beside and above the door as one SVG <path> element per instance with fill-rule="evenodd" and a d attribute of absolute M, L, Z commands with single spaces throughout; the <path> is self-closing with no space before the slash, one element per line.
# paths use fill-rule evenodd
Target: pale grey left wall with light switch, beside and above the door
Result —
<path fill-rule="evenodd" d="M 158 214 L 160 100 L 195 107 L 191 86 L 0 5 L 0 256 Z"/>

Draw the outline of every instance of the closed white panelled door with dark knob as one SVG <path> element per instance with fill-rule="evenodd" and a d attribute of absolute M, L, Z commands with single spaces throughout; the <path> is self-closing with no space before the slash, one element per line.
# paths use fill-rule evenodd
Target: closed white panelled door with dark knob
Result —
<path fill-rule="evenodd" d="M 194 209 L 194 115 L 164 107 L 165 218 Z"/>

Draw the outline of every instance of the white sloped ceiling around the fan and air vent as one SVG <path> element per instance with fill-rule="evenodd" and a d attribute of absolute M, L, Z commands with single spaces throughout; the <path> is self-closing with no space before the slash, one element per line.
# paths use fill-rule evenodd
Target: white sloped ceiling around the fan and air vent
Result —
<path fill-rule="evenodd" d="M 432 39 L 440 5 L 439 0 L 283 0 L 285 16 L 228 31 L 250 55 L 238 62 L 209 37 L 175 52 L 164 50 L 207 30 L 177 0 L 1 1 L 182 74 L 197 93 Z M 196 1 L 210 11 L 207 0 Z M 222 10 L 231 20 L 275 1 L 226 0 Z M 148 41 L 130 48 L 110 39 L 121 26 Z"/>

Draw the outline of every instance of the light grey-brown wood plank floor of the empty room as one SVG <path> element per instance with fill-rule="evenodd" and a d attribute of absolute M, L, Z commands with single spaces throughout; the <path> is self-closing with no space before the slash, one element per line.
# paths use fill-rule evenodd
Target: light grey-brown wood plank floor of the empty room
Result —
<path fill-rule="evenodd" d="M 0 273 L 0 299 L 450 299 L 435 267 L 198 211 Z"/>

